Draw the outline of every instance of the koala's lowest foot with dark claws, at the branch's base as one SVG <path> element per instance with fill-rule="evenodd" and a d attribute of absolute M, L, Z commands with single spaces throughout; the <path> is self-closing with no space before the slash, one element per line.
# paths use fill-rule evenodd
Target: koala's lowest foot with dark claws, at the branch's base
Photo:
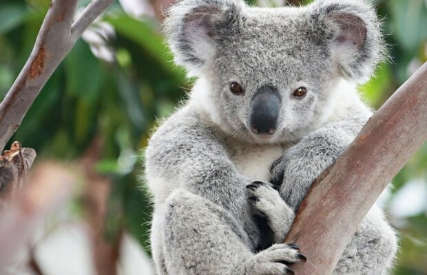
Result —
<path fill-rule="evenodd" d="M 297 245 L 280 243 L 272 245 L 244 262 L 243 274 L 287 275 L 295 274 L 287 265 L 306 261 Z"/>

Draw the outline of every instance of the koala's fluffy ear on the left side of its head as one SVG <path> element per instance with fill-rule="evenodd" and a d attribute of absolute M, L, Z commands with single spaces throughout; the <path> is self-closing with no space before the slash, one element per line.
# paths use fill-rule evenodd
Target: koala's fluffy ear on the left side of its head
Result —
<path fill-rule="evenodd" d="M 216 39 L 238 30 L 244 3 L 238 0 L 183 0 L 172 6 L 165 34 L 175 63 L 192 76 L 216 51 Z"/>

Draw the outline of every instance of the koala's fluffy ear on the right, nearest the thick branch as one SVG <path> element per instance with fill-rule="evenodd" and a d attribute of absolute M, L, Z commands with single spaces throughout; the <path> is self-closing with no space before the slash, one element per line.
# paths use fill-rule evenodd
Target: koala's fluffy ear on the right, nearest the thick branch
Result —
<path fill-rule="evenodd" d="M 317 0 L 312 8 L 338 72 L 357 83 L 368 80 L 385 52 L 373 5 L 365 0 Z"/>

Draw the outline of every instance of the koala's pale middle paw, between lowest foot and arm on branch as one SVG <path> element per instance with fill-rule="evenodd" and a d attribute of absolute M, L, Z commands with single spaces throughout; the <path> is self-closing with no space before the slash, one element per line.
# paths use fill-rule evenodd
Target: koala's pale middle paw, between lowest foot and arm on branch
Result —
<path fill-rule="evenodd" d="M 254 181 L 246 186 L 248 201 L 259 214 L 267 219 L 274 233 L 275 243 L 282 243 L 292 225 L 295 212 L 280 197 L 273 184 Z"/>

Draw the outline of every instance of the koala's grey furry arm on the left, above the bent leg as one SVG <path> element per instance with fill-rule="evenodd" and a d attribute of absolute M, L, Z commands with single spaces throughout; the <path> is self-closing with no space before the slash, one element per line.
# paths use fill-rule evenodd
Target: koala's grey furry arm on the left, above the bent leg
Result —
<path fill-rule="evenodd" d="M 145 169 L 155 201 L 185 189 L 247 220 L 244 187 L 249 180 L 234 168 L 222 137 L 191 107 L 172 115 L 154 133 L 145 153 Z"/>

